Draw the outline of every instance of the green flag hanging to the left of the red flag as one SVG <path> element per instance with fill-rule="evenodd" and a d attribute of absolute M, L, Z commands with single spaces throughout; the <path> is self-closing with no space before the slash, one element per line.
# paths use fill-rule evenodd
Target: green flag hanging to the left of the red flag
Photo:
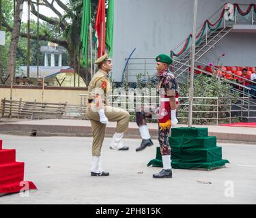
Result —
<path fill-rule="evenodd" d="M 87 65 L 87 47 L 88 47 L 88 33 L 89 33 L 90 22 L 91 22 L 91 0 L 83 0 L 81 42 L 82 42 L 82 53 L 83 53 L 84 65 Z"/>

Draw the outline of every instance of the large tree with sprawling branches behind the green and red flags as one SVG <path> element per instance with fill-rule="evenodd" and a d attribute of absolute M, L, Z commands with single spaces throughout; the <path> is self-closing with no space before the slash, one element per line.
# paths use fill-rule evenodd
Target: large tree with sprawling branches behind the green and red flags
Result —
<path fill-rule="evenodd" d="M 27 0 L 24 0 L 27 1 Z M 108 2 L 108 1 L 106 1 Z M 54 3 L 57 3 L 61 9 L 64 10 L 64 14 L 61 14 L 56 8 Z M 92 15 L 96 14 L 98 0 L 91 0 L 91 11 Z M 81 31 L 81 17 L 83 10 L 83 1 L 82 0 L 69 0 L 67 5 L 63 4 L 61 0 L 40 0 L 40 5 L 44 5 L 50 8 L 58 18 L 51 18 L 41 14 L 35 9 L 36 2 L 31 2 L 31 13 L 35 16 L 38 16 L 41 20 L 46 22 L 49 26 L 51 26 L 51 33 L 48 31 L 44 33 L 40 33 L 39 40 L 44 40 L 47 42 L 53 42 L 63 46 L 68 50 L 69 55 L 69 65 L 74 67 L 75 71 L 78 72 L 80 68 L 79 74 L 85 81 L 85 84 L 89 84 L 89 80 L 91 78 L 91 74 L 87 66 L 81 66 L 80 63 L 82 61 L 79 60 L 79 50 L 81 48 L 80 42 L 80 31 Z M 94 16 L 95 17 L 95 16 Z M 94 20 L 92 19 L 92 25 L 94 25 Z M 7 20 L 3 19 L 3 26 L 6 31 L 12 32 L 14 27 L 11 27 L 10 23 Z M 28 37 L 27 33 L 24 31 L 20 31 L 19 35 L 21 37 Z M 35 33 L 31 33 L 31 39 L 36 40 L 37 35 Z M 10 74 L 8 72 L 7 74 Z"/>

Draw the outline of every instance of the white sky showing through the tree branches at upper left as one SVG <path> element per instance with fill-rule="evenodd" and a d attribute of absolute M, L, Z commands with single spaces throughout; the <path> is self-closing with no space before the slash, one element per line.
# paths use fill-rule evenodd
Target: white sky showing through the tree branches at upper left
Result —
<path fill-rule="evenodd" d="M 48 2 L 51 2 L 52 0 L 48 0 Z M 62 0 L 63 3 L 67 3 L 68 0 Z M 57 3 L 53 3 L 53 5 L 55 5 L 55 8 L 57 10 L 59 10 L 59 12 L 61 12 L 61 14 L 63 14 L 63 10 L 61 9 L 61 7 L 59 7 L 57 5 Z M 35 9 L 37 10 L 37 6 L 35 7 Z M 45 7 L 45 6 L 39 6 L 39 12 L 40 14 L 43 14 L 45 16 L 48 16 L 48 17 L 57 17 L 57 15 L 48 7 Z M 27 22 L 27 2 L 24 3 L 23 5 L 23 16 L 22 16 L 22 22 Z M 37 17 L 34 16 L 32 13 L 30 14 L 30 19 L 31 20 L 37 20 Z"/>

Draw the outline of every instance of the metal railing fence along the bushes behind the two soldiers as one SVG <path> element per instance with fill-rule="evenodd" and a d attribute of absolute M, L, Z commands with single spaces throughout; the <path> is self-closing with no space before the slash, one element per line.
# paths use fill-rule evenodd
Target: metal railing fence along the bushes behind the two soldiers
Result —
<path fill-rule="evenodd" d="M 81 105 L 87 105 L 87 95 L 80 95 Z M 179 97 L 179 108 L 177 118 L 180 123 L 188 119 L 188 97 Z M 248 97 L 194 97 L 193 101 L 193 121 L 194 123 L 216 124 L 232 123 L 234 119 L 248 117 L 250 105 L 244 104 Z M 112 106 L 123 108 L 130 112 L 131 119 L 134 120 L 136 108 L 144 106 L 158 106 L 159 96 L 150 95 L 110 95 L 109 102 Z M 247 101 L 248 102 L 248 101 Z M 153 117 L 156 121 L 157 117 Z"/>

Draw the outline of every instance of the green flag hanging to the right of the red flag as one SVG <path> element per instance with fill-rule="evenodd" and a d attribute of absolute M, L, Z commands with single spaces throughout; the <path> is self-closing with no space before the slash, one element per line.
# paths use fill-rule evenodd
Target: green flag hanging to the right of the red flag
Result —
<path fill-rule="evenodd" d="M 113 55 L 113 29 L 114 29 L 114 0 L 109 0 L 109 7 L 106 17 L 106 46 L 109 49 L 109 56 Z"/>

